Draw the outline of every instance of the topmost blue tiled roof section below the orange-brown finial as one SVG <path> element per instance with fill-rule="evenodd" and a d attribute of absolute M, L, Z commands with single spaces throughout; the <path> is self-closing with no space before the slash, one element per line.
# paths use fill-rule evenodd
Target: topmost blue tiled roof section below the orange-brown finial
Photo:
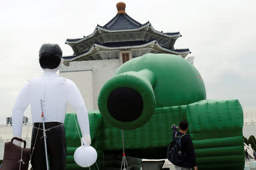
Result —
<path fill-rule="evenodd" d="M 102 28 L 109 30 L 137 29 L 145 24 L 137 22 L 127 14 L 118 14 Z"/>

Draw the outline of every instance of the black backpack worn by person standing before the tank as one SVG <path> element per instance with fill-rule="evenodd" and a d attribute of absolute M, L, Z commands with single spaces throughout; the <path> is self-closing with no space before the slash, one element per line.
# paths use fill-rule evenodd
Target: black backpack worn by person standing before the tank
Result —
<path fill-rule="evenodd" d="M 170 143 L 170 146 L 168 146 L 167 159 L 173 164 L 179 164 L 184 160 L 186 153 L 184 153 L 184 155 L 181 153 L 181 138 L 185 135 L 187 134 L 183 134 L 180 137 L 176 132 L 175 138 Z"/>

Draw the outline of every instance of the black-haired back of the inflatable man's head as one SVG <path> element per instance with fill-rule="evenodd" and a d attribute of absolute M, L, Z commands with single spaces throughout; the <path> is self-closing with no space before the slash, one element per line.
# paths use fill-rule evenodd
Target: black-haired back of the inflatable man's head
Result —
<path fill-rule="evenodd" d="M 43 44 L 39 50 L 42 69 L 55 69 L 60 65 L 62 50 L 57 44 Z"/>

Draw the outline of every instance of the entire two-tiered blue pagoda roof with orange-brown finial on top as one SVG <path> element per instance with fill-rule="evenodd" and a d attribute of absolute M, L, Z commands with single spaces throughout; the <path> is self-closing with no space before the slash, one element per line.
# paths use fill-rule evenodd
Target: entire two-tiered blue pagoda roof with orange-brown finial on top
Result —
<path fill-rule="evenodd" d="M 91 35 L 80 39 L 67 39 L 65 44 L 70 45 L 74 53 L 63 58 L 67 62 L 81 58 L 87 60 L 89 58 L 85 56 L 97 53 L 96 46 L 97 50 L 152 48 L 163 53 L 177 54 L 183 58 L 190 53 L 189 49 L 174 48 L 175 41 L 181 37 L 180 32 L 156 31 L 150 22 L 141 24 L 127 15 L 125 7 L 125 3 L 117 3 L 117 15 L 104 26 L 97 25 Z M 155 42 L 154 47 L 148 46 L 152 42 Z"/>

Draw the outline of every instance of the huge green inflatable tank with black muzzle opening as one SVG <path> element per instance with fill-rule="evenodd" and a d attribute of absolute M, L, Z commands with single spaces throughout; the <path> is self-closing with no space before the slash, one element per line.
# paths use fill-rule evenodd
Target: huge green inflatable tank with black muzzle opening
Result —
<path fill-rule="evenodd" d="M 171 125 L 187 120 L 199 169 L 244 168 L 241 104 L 206 100 L 201 75 L 179 56 L 145 54 L 124 63 L 102 87 L 98 108 L 100 112 L 89 113 L 92 145 L 98 155 L 122 154 L 123 130 L 126 155 L 166 159 Z M 71 120 L 68 114 L 67 145 L 71 143 L 72 157 L 76 137 Z"/>

